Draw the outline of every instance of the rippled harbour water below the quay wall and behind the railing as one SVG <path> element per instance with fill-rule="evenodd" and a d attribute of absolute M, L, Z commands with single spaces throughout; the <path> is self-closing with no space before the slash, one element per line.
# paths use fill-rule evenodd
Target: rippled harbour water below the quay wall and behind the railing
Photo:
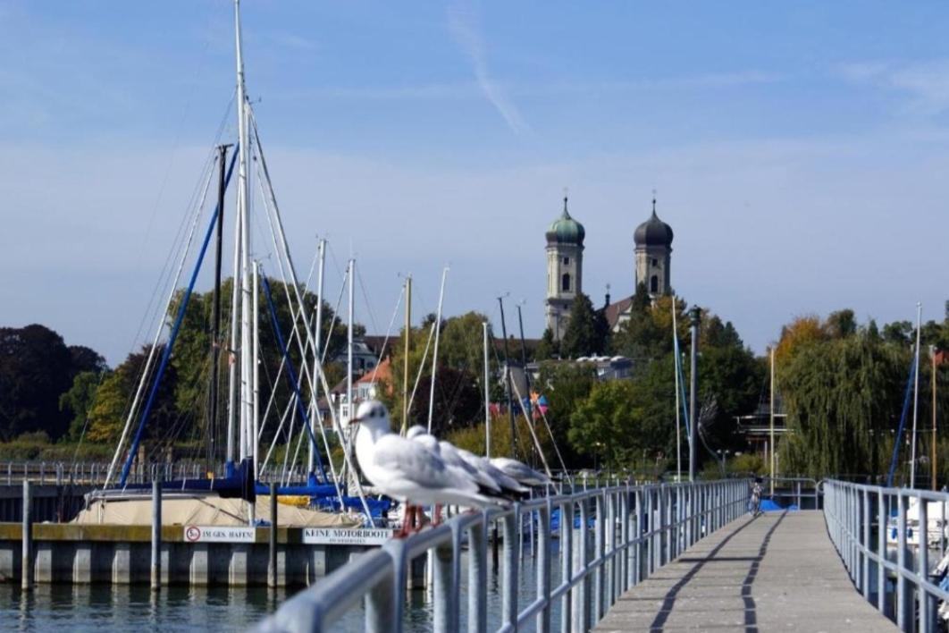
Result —
<path fill-rule="evenodd" d="M 593 539 L 589 539 L 592 541 Z M 530 544 L 518 572 L 519 608 L 530 604 L 537 595 L 535 558 Z M 560 559 L 557 541 L 550 560 L 550 585 L 560 583 Z M 500 578 L 488 556 L 488 627 L 500 625 Z M 468 554 L 461 559 L 461 625 L 467 628 Z M 291 591 L 292 592 L 292 591 Z M 153 593 L 149 586 L 125 585 L 38 585 L 32 591 L 0 584 L 0 631 L 129 631 L 134 633 L 178 633 L 196 630 L 239 631 L 249 628 L 287 598 L 283 589 L 267 587 L 162 587 Z M 405 631 L 432 630 L 433 605 L 425 590 L 412 591 L 405 612 Z M 334 627 L 339 631 L 362 631 L 363 608 L 359 606 Z M 552 629 L 560 630 L 560 605 L 553 605 Z M 533 630 L 533 624 L 523 630 Z"/>

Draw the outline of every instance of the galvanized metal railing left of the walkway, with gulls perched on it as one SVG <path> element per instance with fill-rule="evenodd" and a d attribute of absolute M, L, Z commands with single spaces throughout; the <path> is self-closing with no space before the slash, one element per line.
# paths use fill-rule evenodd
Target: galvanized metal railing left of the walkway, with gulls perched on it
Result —
<path fill-rule="evenodd" d="M 413 560 L 429 553 L 435 631 L 460 630 L 460 605 L 467 601 L 467 628 L 488 627 L 489 531 L 500 526 L 501 624 L 514 631 L 535 624 L 551 629 L 552 607 L 559 602 L 560 630 L 586 631 L 599 622 L 630 586 L 676 558 L 702 536 L 746 512 L 750 485 L 745 479 L 642 486 L 618 486 L 531 499 L 503 511 L 458 514 L 435 528 L 404 540 L 392 540 L 354 558 L 315 586 L 290 598 L 258 624 L 258 631 L 329 631 L 359 605 L 365 630 L 400 632 Z M 551 517 L 559 513 L 559 568 L 555 562 Z M 524 533 L 524 518 L 537 530 Z M 566 528 L 566 529 L 565 529 Z M 519 549 L 536 533 L 536 593 L 519 604 Z M 592 542 L 591 542 L 592 540 Z M 468 578 L 462 592 L 461 556 L 467 551 Z"/>

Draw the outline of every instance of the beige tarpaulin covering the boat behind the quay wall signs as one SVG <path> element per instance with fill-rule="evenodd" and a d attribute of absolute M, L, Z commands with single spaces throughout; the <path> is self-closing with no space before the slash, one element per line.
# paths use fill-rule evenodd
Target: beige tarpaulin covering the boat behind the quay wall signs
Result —
<path fill-rule="evenodd" d="M 244 499 L 216 496 L 166 498 L 161 500 L 161 525 L 246 526 L 251 504 Z M 270 523 L 270 501 L 256 504 L 254 516 Z M 95 499 L 72 520 L 81 525 L 152 525 L 152 500 Z M 277 525 L 287 528 L 358 528 L 358 514 L 320 512 L 277 504 Z"/>

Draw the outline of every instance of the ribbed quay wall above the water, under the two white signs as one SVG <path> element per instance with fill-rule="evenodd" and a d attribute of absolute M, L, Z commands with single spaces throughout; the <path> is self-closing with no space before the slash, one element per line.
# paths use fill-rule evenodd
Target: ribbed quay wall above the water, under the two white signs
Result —
<path fill-rule="evenodd" d="M 307 545 L 302 530 L 277 529 L 276 585 L 308 586 L 371 546 Z M 0 582 L 21 583 L 23 528 L 0 523 Z M 161 585 L 266 586 L 270 528 L 254 543 L 189 543 L 181 526 L 161 529 Z M 148 584 L 151 527 L 32 525 L 33 582 Z"/>

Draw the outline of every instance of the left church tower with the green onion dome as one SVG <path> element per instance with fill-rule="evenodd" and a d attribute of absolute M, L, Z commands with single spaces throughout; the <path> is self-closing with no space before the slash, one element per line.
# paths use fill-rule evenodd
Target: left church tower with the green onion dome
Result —
<path fill-rule="evenodd" d="M 567 196 L 564 213 L 547 231 L 547 326 L 554 341 L 560 341 L 567 329 L 570 307 L 577 294 L 583 291 L 584 225 L 570 217 Z"/>

